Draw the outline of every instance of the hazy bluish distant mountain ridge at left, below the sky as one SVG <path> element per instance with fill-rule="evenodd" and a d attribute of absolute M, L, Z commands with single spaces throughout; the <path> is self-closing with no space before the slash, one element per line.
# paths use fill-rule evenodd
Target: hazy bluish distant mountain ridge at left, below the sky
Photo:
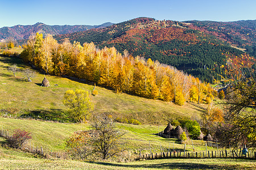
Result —
<path fill-rule="evenodd" d="M 36 23 L 34 25 L 15 25 L 13 27 L 0 28 L 0 40 L 12 37 L 15 40 L 28 39 L 32 33 L 40 32 L 43 36 L 47 34 L 60 35 L 65 33 L 73 33 L 86 31 L 92 28 L 104 28 L 113 23 L 104 23 L 101 25 L 47 25 L 44 23 Z"/>

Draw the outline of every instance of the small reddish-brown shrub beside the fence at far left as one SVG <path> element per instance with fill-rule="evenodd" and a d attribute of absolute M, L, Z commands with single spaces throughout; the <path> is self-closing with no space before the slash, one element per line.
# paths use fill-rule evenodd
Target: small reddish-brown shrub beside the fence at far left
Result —
<path fill-rule="evenodd" d="M 31 133 L 26 130 L 16 129 L 14 130 L 13 137 L 7 139 L 10 147 L 22 148 L 23 143 L 28 139 L 31 139 Z"/>

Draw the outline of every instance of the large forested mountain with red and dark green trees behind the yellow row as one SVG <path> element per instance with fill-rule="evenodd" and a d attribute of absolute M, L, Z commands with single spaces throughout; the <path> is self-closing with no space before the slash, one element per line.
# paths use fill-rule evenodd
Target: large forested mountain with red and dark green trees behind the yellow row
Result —
<path fill-rule="evenodd" d="M 230 74 L 228 67 L 255 64 L 256 21 L 210 22 L 136 18 L 105 28 L 54 36 L 59 42 L 94 42 L 132 56 L 158 60 L 206 82 Z M 246 50 L 247 49 L 247 50 Z M 245 51 L 247 53 L 245 53 Z"/>

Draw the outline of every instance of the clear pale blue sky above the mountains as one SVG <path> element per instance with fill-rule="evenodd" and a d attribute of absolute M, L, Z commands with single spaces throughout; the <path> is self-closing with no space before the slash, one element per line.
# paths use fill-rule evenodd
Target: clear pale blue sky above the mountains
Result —
<path fill-rule="evenodd" d="M 256 19 L 255 0 L 0 0 L 0 28 L 13 25 L 98 25 L 146 16 L 158 20 Z"/>

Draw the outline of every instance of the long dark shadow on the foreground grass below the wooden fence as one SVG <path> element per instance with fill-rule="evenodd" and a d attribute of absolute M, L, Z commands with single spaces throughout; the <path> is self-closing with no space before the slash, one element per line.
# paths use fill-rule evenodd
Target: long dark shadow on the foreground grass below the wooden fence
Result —
<path fill-rule="evenodd" d="M 237 165 L 201 164 L 201 163 L 144 163 L 144 164 L 118 164 L 106 162 L 93 162 L 94 164 L 108 165 L 122 168 L 157 168 L 157 169 L 236 169 Z"/>

